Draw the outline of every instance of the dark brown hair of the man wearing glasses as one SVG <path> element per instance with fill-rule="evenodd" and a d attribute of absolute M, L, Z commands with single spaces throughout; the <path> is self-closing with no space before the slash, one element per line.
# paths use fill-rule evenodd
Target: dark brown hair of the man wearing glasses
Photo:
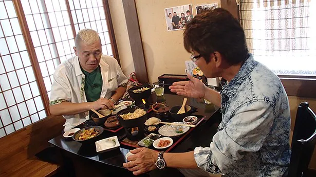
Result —
<path fill-rule="evenodd" d="M 202 9 L 183 32 L 184 48 L 196 51 L 206 62 L 217 51 L 230 64 L 243 62 L 248 57 L 246 37 L 239 21 L 222 8 Z"/>

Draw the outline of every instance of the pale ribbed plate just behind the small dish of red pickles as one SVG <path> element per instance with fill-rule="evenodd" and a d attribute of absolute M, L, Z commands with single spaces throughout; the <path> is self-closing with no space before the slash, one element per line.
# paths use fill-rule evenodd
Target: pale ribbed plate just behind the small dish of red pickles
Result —
<path fill-rule="evenodd" d="M 174 122 L 178 124 L 185 124 L 183 122 Z M 188 126 L 179 126 L 179 125 L 163 125 L 159 128 L 158 132 L 160 135 L 164 137 L 177 137 L 185 132 L 187 132 L 190 129 Z"/>

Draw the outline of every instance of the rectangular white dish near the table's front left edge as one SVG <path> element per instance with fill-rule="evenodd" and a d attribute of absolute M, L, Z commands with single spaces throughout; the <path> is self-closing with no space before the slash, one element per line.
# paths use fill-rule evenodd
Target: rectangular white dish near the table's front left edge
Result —
<path fill-rule="evenodd" d="M 97 152 L 105 152 L 120 146 L 117 136 L 105 138 L 96 142 Z"/>

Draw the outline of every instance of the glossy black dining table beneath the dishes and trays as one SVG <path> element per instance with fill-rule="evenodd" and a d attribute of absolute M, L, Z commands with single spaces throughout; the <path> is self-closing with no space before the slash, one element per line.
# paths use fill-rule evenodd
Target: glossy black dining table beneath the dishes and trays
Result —
<path fill-rule="evenodd" d="M 182 104 L 183 98 L 184 97 L 172 94 L 165 94 L 164 96 L 156 97 L 155 93 L 153 93 L 149 101 L 150 103 L 154 103 L 156 101 L 164 102 L 168 104 L 169 107 L 172 107 Z M 184 152 L 193 150 L 196 146 L 209 146 L 209 143 L 211 142 L 212 137 L 217 130 L 218 122 L 220 121 L 220 114 L 217 112 L 218 108 L 215 105 L 205 104 L 202 99 L 191 98 L 188 99 L 187 104 L 198 108 L 194 115 L 202 115 L 206 116 L 207 118 L 199 126 L 195 127 L 190 135 L 185 137 L 185 139 L 180 142 L 179 145 L 177 145 L 171 152 Z M 214 114 L 217 116 L 213 116 Z M 124 129 L 120 131 L 123 132 Z M 112 133 L 106 131 L 106 133 L 102 134 L 102 138 L 116 136 L 117 134 L 118 132 Z M 90 163 L 97 164 L 95 166 L 98 166 L 98 168 L 102 167 L 106 171 L 121 171 L 120 173 L 127 172 L 124 175 L 128 174 L 128 171 L 123 167 L 123 163 L 126 162 L 125 154 L 130 149 L 133 149 L 132 147 L 121 145 L 118 149 L 104 153 L 98 153 L 96 152 L 95 144 L 82 145 L 79 142 L 72 141 L 72 139 L 65 139 L 62 135 L 49 140 L 49 143 L 62 149 L 63 154 L 68 158 L 79 159 L 76 160 L 76 163 L 82 160 L 88 161 L 83 166 L 86 166 Z"/>

